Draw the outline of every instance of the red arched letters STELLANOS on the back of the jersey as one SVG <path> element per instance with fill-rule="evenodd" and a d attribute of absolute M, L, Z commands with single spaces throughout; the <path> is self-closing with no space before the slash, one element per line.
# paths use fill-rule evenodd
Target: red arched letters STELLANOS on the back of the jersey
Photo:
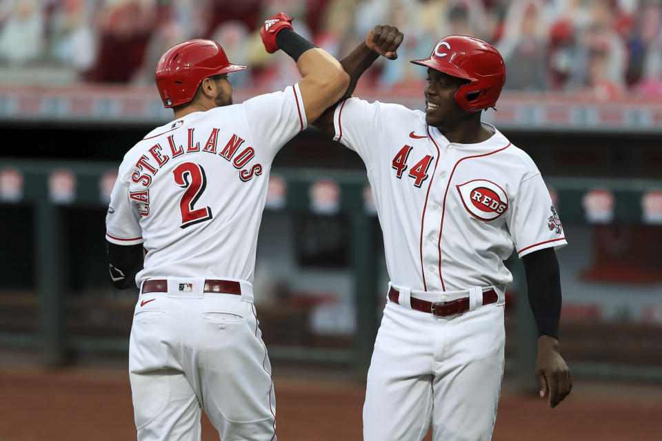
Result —
<path fill-rule="evenodd" d="M 170 161 L 170 158 L 177 158 L 181 155 L 189 154 L 214 154 L 232 163 L 234 168 L 239 171 L 239 179 L 243 182 L 250 181 L 253 176 L 262 174 L 263 167 L 259 163 L 248 165 L 255 157 L 255 149 L 253 147 L 243 147 L 240 149 L 244 140 L 237 134 L 232 134 L 230 139 L 225 143 L 225 147 L 217 149 L 217 141 L 219 136 L 219 129 L 212 128 L 212 132 L 207 138 L 207 142 L 201 147 L 200 141 L 194 138 L 194 128 L 188 129 L 188 141 L 186 147 L 181 143 L 182 140 L 176 141 L 174 135 L 167 138 L 168 145 L 165 147 L 161 143 L 156 143 L 147 149 L 136 165 L 131 180 L 134 183 L 140 183 L 144 187 L 149 187 L 152 183 L 152 177 L 159 172 L 161 167 Z M 163 141 L 161 141 L 163 142 Z M 223 145 L 222 143 L 220 145 Z M 148 156 L 149 155 L 149 156 Z"/>

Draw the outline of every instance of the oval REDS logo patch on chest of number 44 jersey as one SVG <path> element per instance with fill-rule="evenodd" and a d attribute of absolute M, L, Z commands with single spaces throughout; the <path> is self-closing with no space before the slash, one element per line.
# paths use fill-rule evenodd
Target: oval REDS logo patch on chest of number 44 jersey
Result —
<path fill-rule="evenodd" d="M 508 195 L 492 181 L 474 179 L 456 187 L 464 207 L 474 218 L 489 222 L 508 209 Z"/>

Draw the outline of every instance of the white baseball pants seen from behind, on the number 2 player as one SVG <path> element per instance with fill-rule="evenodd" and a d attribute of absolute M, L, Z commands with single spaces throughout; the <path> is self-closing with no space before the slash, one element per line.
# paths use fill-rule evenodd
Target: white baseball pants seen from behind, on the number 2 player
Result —
<path fill-rule="evenodd" d="M 271 366 L 250 300 L 141 294 L 129 349 L 138 440 L 198 441 L 201 409 L 223 441 L 276 440 Z"/>

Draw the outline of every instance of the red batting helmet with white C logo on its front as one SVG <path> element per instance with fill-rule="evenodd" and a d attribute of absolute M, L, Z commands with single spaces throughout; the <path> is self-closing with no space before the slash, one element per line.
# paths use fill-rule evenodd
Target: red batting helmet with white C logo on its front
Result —
<path fill-rule="evenodd" d="M 469 80 L 455 94 L 455 101 L 467 112 L 494 107 L 505 83 L 505 63 L 499 51 L 485 41 L 464 35 L 439 40 L 430 58 L 412 63 Z"/>

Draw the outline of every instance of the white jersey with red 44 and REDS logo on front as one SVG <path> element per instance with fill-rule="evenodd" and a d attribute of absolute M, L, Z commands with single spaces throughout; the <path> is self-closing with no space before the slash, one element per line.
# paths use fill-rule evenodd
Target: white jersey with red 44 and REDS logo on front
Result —
<path fill-rule="evenodd" d="M 521 257 L 566 244 L 534 162 L 485 126 L 487 141 L 450 143 L 419 110 L 358 98 L 337 105 L 334 139 L 367 167 L 394 285 L 503 287 L 513 249 Z"/>

